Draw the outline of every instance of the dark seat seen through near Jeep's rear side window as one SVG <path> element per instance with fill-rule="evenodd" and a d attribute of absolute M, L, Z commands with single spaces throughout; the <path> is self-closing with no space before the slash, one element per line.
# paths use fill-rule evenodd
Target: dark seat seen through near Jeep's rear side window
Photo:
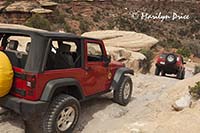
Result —
<path fill-rule="evenodd" d="M 62 44 L 59 46 L 55 56 L 56 69 L 65 69 L 74 67 L 73 57 L 70 54 L 70 49 L 71 46 L 68 44 Z"/>

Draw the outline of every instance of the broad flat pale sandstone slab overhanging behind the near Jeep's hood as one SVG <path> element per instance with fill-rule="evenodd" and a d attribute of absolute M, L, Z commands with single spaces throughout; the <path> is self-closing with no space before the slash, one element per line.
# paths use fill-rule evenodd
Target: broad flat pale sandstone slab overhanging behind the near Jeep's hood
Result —
<path fill-rule="evenodd" d="M 92 31 L 86 32 L 82 36 L 102 39 L 107 46 L 115 46 L 133 50 L 151 48 L 158 42 L 157 39 L 151 36 L 133 31 Z"/>

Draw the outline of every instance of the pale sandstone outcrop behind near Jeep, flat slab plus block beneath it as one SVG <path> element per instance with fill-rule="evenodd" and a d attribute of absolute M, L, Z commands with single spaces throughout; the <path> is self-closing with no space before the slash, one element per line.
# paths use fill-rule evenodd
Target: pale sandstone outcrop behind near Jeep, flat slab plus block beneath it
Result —
<path fill-rule="evenodd" d="M 158 40 L 145 34 L 130 31 L 92 31 L 82 34 L 104 41 L 107 52 L 113 60 L 121 61 L 135 71 L 141 70 L 146 57 L 139 52 L 143 48 L 151 48 Z"/>

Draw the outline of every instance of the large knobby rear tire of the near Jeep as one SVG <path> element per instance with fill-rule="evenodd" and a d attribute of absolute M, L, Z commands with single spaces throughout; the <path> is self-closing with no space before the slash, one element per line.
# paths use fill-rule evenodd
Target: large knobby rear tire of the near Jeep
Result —
<path fill-rule="evenodd" d="M 73 121 L 71 122 L 71 125 L 66 130 L 65 129 L 60 130 L 59 129 L 60 125 L 59 126 L 57 125 L 58 119 L 65 117 L 66 114 L 62 116 L 61 113 L 62 111 L 67 110 L 68 107 L 74 111 L 71 114 L 67 114 L 68 117 L 71 117 L 70 115 L 73 115 L 73 116 L 75 115 L 75 116 L 74 117 L 72 116 Z M 43 133 L 71 133 L 78 122 L 79 114 L 80 114 L 80 103 L 76 98 L 69 95 L 65 95 L 65 94 L 61 94 L 57 96 L 51 103 L 45 115 L 45 118 L 43 121 Z M 66 120 L 63 123 L 68 124 L 69 121 Z"/>

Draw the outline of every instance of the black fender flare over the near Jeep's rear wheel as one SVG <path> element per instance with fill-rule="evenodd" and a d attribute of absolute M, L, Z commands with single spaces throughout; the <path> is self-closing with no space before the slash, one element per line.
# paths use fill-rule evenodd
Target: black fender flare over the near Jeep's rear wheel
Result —
<path fill-rule="evenodd" d="M 55 79 L 55 80 L 49 81 L 43 90 L 40 100 L 51 101 L 55 91 L 57 91 L 58 88 L 63 87 L 63 86 L 76 86 L 81 95 L 80 100 L 85 98 L 83 95 L 81 85 L 79 84 L 78 80 L 74 78 L 62 78 L 62 79 Z"/>

